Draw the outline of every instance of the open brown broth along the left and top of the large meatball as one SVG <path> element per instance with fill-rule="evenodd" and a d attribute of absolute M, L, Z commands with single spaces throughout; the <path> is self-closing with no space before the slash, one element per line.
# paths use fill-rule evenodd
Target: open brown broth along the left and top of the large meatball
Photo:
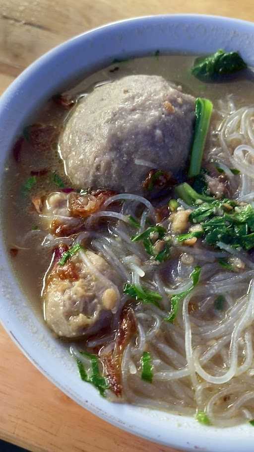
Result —
<path fill-rule="evenodd" d="M 82 83 L 71 88 L 68 93 L 76 95 L 91 90 L 98 82 L 109 79 L 118 79 L 124 75 L 151 74 L 162 75 L 166 79 L 181 84 L 183 91 L 195 97 L 210 98 L 215 107 L 219 99 L 225 99 L 229 94 L 234 94 L 237 107 L 254 103 L 254 85 L 251 76 L 238 75 L 227 82 L 204 83 L 191 75 L 193 56 L 159 56 L 145 57 L 120 64 L 111 65 L 109 68 L 98 71 L 87 77 Z M 119 68 L 119 69 L 115 69 Z M 114 70 L 114 72 L 111 72 Z M 36 118 L 35 122 L 52 124 L 59 129 L 68 111 L 49 101 Z M 37 194 L 49 193 L 57 190 L 57 185 L 51 181 L 50 172 L 56 173 L 63 179 L 65 186 L 70 182 L 64 174 L 63 161 L 57 150 L 57 139 L 53 146 L 43 150 L 36 150 L 29 143 L 24 143 L 20 153 L 21 161 L 16 162 L 11 154 L 5 164 L 5 176 L 2 182 L 2 211 L 5 217 L 5 242 L 7 252 L 11 248 L 18 249 L 14 256 L 10 254 L 10 260 L 22 290 L 31 300 L 33 307 L 38 312 L 41 309 L 41 290 L 44 274 L 49 266 L 52 250 L 40 246 L 43 235 L 34 231 L 33 226 L 40 227 L 38 214 L 32 208 L 31 197 Z M 24 196 L 22 187 L 30 177 L 31 171 L 47 168 L 48 174 L 38 177 L 38 182 L 31 191 Z M 86 188 L 86 187 L 84 187 Z M 29 234 L 26 238 L 26 234 Z"/>

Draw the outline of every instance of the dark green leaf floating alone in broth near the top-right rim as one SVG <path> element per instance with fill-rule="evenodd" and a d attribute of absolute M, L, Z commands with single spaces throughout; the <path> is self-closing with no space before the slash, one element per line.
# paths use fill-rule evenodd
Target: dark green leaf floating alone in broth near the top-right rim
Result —
<path fill-rule="evenodd" d="M 239 53 L 228 53 L 219 49 L 208 57 L 196 58 L 191 72 L 197 78 L 212 80 L 246 68 L 247 64 L 240 57 Z"/>

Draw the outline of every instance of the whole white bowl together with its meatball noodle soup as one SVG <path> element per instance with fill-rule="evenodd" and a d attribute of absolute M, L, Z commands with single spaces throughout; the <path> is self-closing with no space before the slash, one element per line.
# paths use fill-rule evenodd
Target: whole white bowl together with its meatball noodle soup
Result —
<path fill-rule="evenodd" d="M 117 22 L 0 99 L 3 326 L 81 406 L 187 451 L 253 450 L 253 38 Z"/>

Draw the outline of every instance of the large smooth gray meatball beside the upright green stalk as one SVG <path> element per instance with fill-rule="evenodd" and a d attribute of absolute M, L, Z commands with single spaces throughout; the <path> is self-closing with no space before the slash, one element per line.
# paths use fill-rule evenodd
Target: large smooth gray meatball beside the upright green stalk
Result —
<path fill-rule="evenodd" d="M 79 101 L 60 139 L 73 186 L 142 194 L 149 170 L 176 174 L 190 152 L 194 106 L 192 96 L 157 75 L 129 75 L 95 88 Z"/>

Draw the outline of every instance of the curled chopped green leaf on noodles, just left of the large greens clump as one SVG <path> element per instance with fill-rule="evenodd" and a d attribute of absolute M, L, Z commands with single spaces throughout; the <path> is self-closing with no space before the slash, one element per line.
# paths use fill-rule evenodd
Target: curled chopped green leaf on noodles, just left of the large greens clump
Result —
<path fill-rule="evenodd" d="M 163 262 L 168 259 L 170 255 L 170 243 L 165 240 L 164 248 L 159 253 L 156 252 L 156 241 L 164 240 L 166 237 L 167 231 L 162 226 L 150 226 L 141 234 L 132 235 L 131 240 L 133 242 L 142 241 L 144 248 L 150 256 L 153 256 L 155 260 L 159 262 Z"/>

